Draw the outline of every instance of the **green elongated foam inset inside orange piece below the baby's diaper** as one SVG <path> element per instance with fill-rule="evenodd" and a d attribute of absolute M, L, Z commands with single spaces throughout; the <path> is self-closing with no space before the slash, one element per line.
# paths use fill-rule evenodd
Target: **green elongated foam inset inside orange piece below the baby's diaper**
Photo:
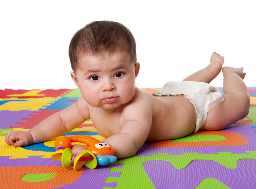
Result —
<path fill-rule="evenodd" d="M 189 135 L 180 139 L 170 140 L 171 142 L 202 142 L 202 141 L 224 141 L 225 137 L 219 135 Z"/>

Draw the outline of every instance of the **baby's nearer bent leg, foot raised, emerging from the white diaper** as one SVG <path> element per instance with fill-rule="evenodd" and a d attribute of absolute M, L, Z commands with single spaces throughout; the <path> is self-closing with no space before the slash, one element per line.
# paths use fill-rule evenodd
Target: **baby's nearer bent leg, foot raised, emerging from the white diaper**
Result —
<path fill-rule="evenodd" d="M 245 118 L 250 109 L 250 97 L 243 79 L 243 68 L 223 67 L 224 101 L 211 109 L 203 128 L 208 131 L 224 129 Z"/>

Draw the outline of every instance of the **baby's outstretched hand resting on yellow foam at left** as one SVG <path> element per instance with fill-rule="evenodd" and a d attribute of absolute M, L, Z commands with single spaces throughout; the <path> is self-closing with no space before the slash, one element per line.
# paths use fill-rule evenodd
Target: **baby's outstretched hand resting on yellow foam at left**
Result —
<path fill-rule="evenodd" d="M 33 137 L 28 131 L 13 131 L 6 134 L 5 142 L 16 148 L 33 144 Z"/>

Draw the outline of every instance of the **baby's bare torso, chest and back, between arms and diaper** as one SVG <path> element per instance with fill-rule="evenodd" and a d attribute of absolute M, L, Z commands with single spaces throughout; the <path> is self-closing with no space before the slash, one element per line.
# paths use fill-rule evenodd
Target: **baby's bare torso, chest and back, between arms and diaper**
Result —
<path fill-rule="evenodd" d="M 152 125 L 146 142 L 181 138 L 192 133 L 195 129 L 196 111 L 189 100 L 184 98 L 184 95 L 152 96 L 138 88 L 136 88 L 133 100 L 119 106 L 114 112 L 106 112 L 99 108 L 90 107 L 90 118 L 99 134 L 108 138 L 120 133 L 124 125 L 124 110 L 131 106 L 136 107 L 137 104 L 138 106 L 147 104 L 145 113 L 149 111 L 148 108 L 153 113 Z"/>

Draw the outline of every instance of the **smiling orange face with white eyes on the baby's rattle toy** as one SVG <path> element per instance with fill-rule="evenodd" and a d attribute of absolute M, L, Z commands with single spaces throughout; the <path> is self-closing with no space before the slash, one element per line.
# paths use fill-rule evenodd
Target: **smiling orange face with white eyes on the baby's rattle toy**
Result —
<path fill-rule="evenodd" d="M 107 143 L 95 143 L 90 145 L 87 148 L 88 151 L 92 152 L 93 154 L 95 154 L 96 156 L 101 154 L 103 156 L 106 155 L 110 155 L 113 156 L 114 155 L 114 149 L 112 148 L 112 146 L 110 146 Z"/>

